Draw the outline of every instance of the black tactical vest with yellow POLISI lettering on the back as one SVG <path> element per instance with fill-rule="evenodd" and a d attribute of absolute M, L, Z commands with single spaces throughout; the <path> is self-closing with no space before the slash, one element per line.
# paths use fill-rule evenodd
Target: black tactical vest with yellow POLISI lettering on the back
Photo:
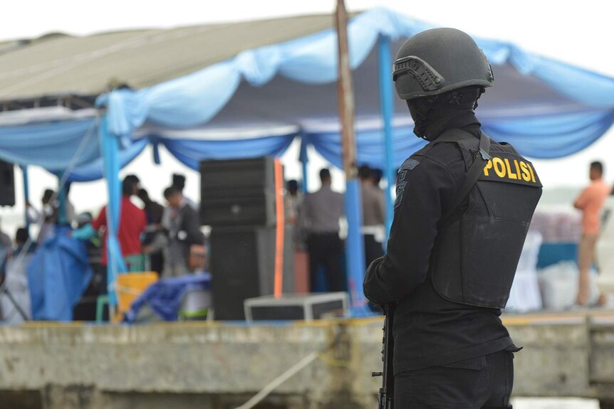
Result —
<path fill-rule="evenodd" d="M 435 143 L 459 145 L 466 169 L 479 160 L 475 159 L 478 139 L 472 134 L 451 129 L 440 138 Z M 533 164 L 510 144 L 491 141 L 489 154 L 491 159 L 467 199 L 439 225 L 430 274 L 444 299 L 503 308 L 541 196 L 541 182 Z"/>

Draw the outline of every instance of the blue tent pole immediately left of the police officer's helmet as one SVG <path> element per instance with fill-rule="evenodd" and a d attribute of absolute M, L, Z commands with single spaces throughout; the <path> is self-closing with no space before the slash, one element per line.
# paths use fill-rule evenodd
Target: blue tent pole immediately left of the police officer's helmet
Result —
<path fill-rule="evenodd" d="M 394 201 L 392 201 L 392 186 L 395 180 L 395 156 L 392 142 L 392 79 L 390 78 L 390 38 L 380 36 L 378 41 L 378 75 L 380 79 L 380 107 L 384 122 L 384 147 L 386 160 L 384 176 L 386 177 L 386 237 L 390 234 Z"/>

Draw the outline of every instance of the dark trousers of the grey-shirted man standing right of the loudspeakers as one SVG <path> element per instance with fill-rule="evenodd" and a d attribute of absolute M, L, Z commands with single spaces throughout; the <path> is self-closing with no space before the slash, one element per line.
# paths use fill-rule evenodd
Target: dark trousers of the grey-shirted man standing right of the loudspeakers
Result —
<path fill-rule="evenodd" d="M 341 269 L 343 245 L 338 233 L 311 233 L 307 236 L 310 291 L 316 289 L 318 269 L 323 267 L 329 292 L 345 291 L 345 275 Z"/>

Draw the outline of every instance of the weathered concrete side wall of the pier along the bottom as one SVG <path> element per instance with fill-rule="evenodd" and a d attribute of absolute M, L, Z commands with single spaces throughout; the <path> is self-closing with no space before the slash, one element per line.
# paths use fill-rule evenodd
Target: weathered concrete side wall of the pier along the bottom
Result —
<path fill-rule="evenodd" d="M 516 396 L 614 403 L 614 313 L 512 316 Z M 0 407 L 237 408 L 318 353 L 255 408 L 377 407 L 383 320 L 0 327 Z"/>

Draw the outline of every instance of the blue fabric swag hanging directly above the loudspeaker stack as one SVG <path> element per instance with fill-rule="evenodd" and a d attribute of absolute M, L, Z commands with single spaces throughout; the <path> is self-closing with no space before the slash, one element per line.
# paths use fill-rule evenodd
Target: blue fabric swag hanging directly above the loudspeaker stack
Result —
<path fill-rule="evenodd" d="M 259 156 L 279 156 L 286 152 L 294 134 L 276 137 L 236 140 L 160 139 L 182 164 L 199 169 L 203 159 L 246 159 Z"/>

